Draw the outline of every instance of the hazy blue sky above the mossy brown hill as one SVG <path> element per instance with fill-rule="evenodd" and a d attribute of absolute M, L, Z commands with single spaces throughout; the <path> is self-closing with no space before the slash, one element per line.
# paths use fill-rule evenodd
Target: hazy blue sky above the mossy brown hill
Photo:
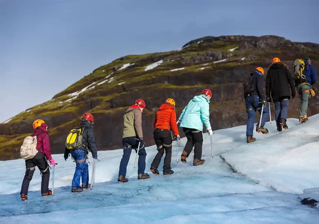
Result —
<path fill-rule="evenodd" d="M 318 2 L 0 0 L 0 122 L 128 54 L 207 35 L 319 43 Z"/>

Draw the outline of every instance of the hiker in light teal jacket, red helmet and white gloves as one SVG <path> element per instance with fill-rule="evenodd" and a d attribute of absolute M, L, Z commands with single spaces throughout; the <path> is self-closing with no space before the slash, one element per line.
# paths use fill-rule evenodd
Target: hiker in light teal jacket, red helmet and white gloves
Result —
<path fill-rule="evenodd" d="M 201 159 L 203 150 L 203 122 L 209 135 L 212 135 L 213 131 L 209 122 L 209 100 L 211 96 L 211 91 L 204 89 L 201 95 L 195 96 L 189 101 L 177 121 L 177 127 L 183 128 L 187 138 L 184 151 L 181 155 L 183 163 L 187 162 L 186 158 L 189 157 L 194 146 L 193 165 L 202 165 L 205 162 L 205 160 Z"/>

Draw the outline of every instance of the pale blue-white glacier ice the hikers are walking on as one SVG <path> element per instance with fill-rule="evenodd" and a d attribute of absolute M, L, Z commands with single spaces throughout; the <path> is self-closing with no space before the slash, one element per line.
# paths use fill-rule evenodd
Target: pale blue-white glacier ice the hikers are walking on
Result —
<path fill-rule="evenodd" d="M 302 205 L 300 193 L 319 186 L 318 123 L 317 115 L 301 125 L 288 119 L 289 129 L 278 133 L 275 123 L 268 122 L 270 133 L 255 132 L 257 141 L 251 144 L 246 143 L 246 126 L 214 131 L 214 158 L 210 137 L 204 134 L 206 162 L 197 167 L 192 166 L 193 153 L 186 164 L 176 163 L 173 142 L 175 173 L 162 175 L 163 158 L 160 175 L 143 181 L 137 180 L 132 152 L 128 183 L 116 182 L 122 149 L 99 151 L 96 183 L 79 194 L 70 192 L 75 163 L 53 155 L 58 163 L 55 195 L 41 197 L 36 170 L 26 202 L 19 196 L 24 160 L 0 161 L 0 223 L 316 223 L 319 211 Z M 185 138 L 179 141 L 178 159 L 185 143 Z M 146 152 L 148 172 L 156 147 Z M 90 175 L 91 167 L 92 163 Z"/>

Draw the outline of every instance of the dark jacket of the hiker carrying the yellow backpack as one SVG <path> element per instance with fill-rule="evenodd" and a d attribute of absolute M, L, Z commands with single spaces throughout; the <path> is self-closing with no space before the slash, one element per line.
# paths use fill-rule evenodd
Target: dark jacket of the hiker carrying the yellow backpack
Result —
<path fill-rule="evenodd" d="M 95 139 L 93 134 L 92 125 L 90 122 L 82 118 L 80 123 L 80 128 L 85 127 L 83 134 L 82 134 L 82 144 L 86 146 L 87 149 L 89 149 L 92 153 L 92 156 L 97 157 L 98 153 L 95 146 Z M 85 146 L 81 146 L 79 149 L 85 150 Z M 70 154 L 70 149 L 65 148 L 64 151 L 64 158 L 68 158 Z"/>

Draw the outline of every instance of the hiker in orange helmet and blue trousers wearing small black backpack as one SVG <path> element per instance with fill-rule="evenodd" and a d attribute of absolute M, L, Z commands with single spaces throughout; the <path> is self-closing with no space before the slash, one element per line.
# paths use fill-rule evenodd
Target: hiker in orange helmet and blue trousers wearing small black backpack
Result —
<path fill-rule="evenodd" d="M 256 138 L 253 138 L 253 131 L 257 110 L 260 113 L 260 116 L 262 116 L 262 120 L 261 124 L 259 123 L 260 120 L 258 120 L 256 132 L 268 134 L 268 129 L 264 128 L 264 125 L 269 116 L 269 111 L 266 106 L 265 95 L 263 94 L 263 75 L 263 68 L 257 67 L 255 71 L 250 73 L 249 78 L 247 78 L 244 82 L 244 97 L 246 111 L 248 114 L 246 127 L 247 143 L 256 141 Z"/>

